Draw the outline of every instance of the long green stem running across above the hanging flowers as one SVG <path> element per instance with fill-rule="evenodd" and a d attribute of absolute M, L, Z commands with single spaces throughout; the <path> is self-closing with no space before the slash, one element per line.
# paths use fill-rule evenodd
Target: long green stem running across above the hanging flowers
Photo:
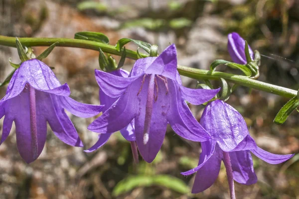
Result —
<path fill-rule="evenodd" d="M 59 42 L 57 46 L 61 46 L 61 47 L 85 48 L 85 49 L 91 49 L 96 51 L 99 51 L 99 48 L 101 48 L 103 52 L 110 53 L 113 55 L 118 55 L 118 56 L 121 56 L 123 53 L 123 49 L 119 52 L 118 50 L 116 50 L 115 46 L 113 45 L 103 44 L 95 41 L 81 40 L 81 39 L 19 38 L 19 41 L 21 42 L 22 45 L 27 47 L 50 46 L 55 42 Z M 0 45 L 15 47 L 15 38 L 0 35 Z M 136 51 L 126 49 L 126 55 L 127 58 L 130 59 L 135 59 L 135 60 L 138 59 Z M 148 55 L 143 54 L 142 56 L 147 57 Z M 220 80 L 220 78 L 223 78 L 228 82 L 233 82 L 238 85 L 242 85 L 260 91 L 265 91 L 283 97 L 292 98 L 294 96 L 297 96 L 297 91 L 295 90 L 264 83 L 258 80 L 253 80 L 245 76 L 222 73 L 217 71 L 211 72 L 207 70 L 194 69 L 185 66 L 177 66 L 177 70 L 180 75 L 193 78 L 196 80 Z"/>

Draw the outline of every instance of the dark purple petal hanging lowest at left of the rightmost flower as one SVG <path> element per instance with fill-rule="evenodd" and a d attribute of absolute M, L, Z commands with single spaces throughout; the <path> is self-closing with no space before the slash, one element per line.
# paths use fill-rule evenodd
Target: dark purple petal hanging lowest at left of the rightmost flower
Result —
<path fill-rule="evenodd" d="M 216 144 L 214 155 L 196 173 L 192 194 L 203 192 L 213 185 L 218 177 L 222 158 L 222 151 Z"/>

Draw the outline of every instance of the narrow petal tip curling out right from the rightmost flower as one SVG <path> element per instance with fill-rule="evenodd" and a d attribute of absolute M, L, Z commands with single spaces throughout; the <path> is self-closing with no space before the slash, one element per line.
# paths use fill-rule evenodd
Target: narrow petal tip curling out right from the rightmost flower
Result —
<path fill-rule="evenodd" d="M 260 147 L 257 147 L 255 150 L 251 150 L 251 152 L 256 155 L 258 158 L 264 160 L 265 162 L 268 162 L 270 164 L 280 164 L 282 162 L 285 162 L 292 158 L 295 154 L 289 154 L 289 155 L 277 155 L 273 153 L 269 153 L 268 151 L 265 151 L 261 149 Z"/>

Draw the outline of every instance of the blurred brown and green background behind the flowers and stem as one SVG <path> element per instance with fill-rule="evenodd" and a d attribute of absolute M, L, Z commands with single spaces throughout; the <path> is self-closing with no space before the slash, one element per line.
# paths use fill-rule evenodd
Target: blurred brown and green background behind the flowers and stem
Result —
<path fill-rule="evenodd" d="M 236 31 L 262 57 L 259 80 L 299 88 L 299 0 L 0 0 L 0 34 L 17 37 L 67 37 L 78 31 L 106 34 L 110 44 L 123 37 L 178 49 L 180 65 L 208 69 L 215 59 L 230 61 L 227 34 Z M 127 48 L 136 50 L 134 44 Z M 36 47 L 40 54 L 45 47 Z M 0 81 L 18 63 L 14 48 L 0 46 Z M 117 60 L 119 57 L 114 56 Z M 94 69 L 98 52 L 56 47 L 44 60 L 55 67 L 60 83 L 67 82 L 71 97 L 99 104 Z M 127 60 L 130 70 L 133 60 Z M 224 66 L 218 70 L 239 74 Z M 182 77 L 184 86 L 196 81 Z M 219 83 L 213 83 L 217 86 Z M 5 88 L 0 89 L 0 97 Z M 244 116 L 257 144 L 272 153 L 299 152 L 297 111 L 281 126 L 273 123 L 289 99 L 240 87 L 227 101 Z M 190 105 L 199 120 L 203 106 Z M 71 120 L 86 144 L 97 133 L 87 130 L 95 118 Z M 0 127 L 2 120 L 0 122 Z M 194 176 L 180 172 L 197 166 L 200 144 L 181 139 L 167 128 L 161 151 L 153 163 L 140 158 L 133 164 L 130 143 L 115 133 L 93 153 L 62 143 L 48 128 L 41 156 L 30 165 L 19 156 L 14 127 L 0 146 L 0 199 L 229 199 L 225 168 L 216 183 L 203 193 L 190 194 Z M 299 156 L 270 165 L 253 156 L 258 183 L 236 183 L 239 199 L 299 199 Z"/>

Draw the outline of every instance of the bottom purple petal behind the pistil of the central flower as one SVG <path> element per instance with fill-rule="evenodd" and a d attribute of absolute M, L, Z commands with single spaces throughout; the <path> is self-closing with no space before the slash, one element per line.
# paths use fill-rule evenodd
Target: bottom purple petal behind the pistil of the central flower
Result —
<path fill-rule="evenodd" d="M 148 96 L 150 92 L 149 89 L 149 78 L 147 77 L 144 83 L 144 87 L 138 96 L 139 110 L 138 114 L 135 117 L 135 133 L 136 133 L 136 142 L 138 149 L 147 162 L 152 162 L 159 152 L 161 145 L 163 143 L 167 119 L 166 113 L 169 109 L 169 100 L 168 97 L 171 96 L 166 91 L 165 85 L 162 83 L 162 80 L 156 78 L 158 91 L 154 90 L 154 97 L 157 97 L 156 100 L 153 98 L 151 118 L 150 121 L 146 120 L 146 115 L 149 113 L 147 107 L 144 104 L 147 104 Z M 155 87 L 154 87 L 155 88 Z M 147 104 L 148 105 L 148 104 Z M 147 129 L 149 127 L 149 130 Z M 145 138 L 145 131 L 148 133 L 148 138 Z M 148 139 L 145 141 L 145 139 Z"/>

